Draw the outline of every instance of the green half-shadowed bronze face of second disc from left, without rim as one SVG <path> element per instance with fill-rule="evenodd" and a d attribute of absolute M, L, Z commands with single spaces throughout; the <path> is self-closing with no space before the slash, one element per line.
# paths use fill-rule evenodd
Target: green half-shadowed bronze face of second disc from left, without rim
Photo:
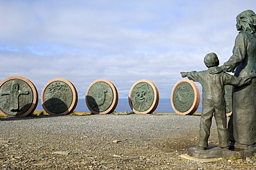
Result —
<path fill-rule="evenodd" d="M 73 93 L 65 82 L 55 81 L 48 84 L 43 94 L 44 106 L 51 113 L 64 113 L 71 106 Z"/>

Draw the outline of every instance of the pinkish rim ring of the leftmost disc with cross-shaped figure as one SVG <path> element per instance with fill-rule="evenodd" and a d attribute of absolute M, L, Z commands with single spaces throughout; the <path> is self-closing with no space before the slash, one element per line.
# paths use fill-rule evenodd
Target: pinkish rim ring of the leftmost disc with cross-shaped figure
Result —
<path fill-rule="evenodd" d="M 30 88 L 31 88 L 31 90 L 33 92 L 33 101 L 32 101 L 32 104 L 31 104 L 30 108 L 28 108 L 28 111 L 26 111 L 25 113 L 23 113 L 21 115 L 8 115 L 5 112 L 3 112 L 1 109 L 0 109 L 0 115 L 6 116 L 6 117 L 7 116 L 8 117 L 24 117 L 26 115 L 29 115 L 30 113 L 33 113 L 33 111 L 35 111 L 35 108 L 37 108 L 37 104 L 38 104 L 37 88 L 35 87 L 33 82 L 31 82 L 29 79 L 26 79 L 25 77 L 21 77 L 21 76 L 12 76 L 12 77 L 8 77 L 6 79 L 3 79 L 3 81 L 0 83 L 0 87 L 4 83 L 8 82 L 11 79 L 20 79 L 20 80 L 26 82 L 28 84 L 28 86 L 30 86 Z"/>

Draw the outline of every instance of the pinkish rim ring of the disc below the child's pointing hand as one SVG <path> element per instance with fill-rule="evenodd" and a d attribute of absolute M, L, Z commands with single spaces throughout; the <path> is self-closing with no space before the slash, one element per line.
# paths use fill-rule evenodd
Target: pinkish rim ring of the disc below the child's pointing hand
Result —
<path fill-rule="evenodd" d="M 190 84 L 190 86 L 192 86 L 192 88 L 194 89 L 194 102 L 192 104 L 192 106 L 190 107 L 190 109 L 188 111 L 185 111 L 185 112 L 180 112 L 178 111 L 174 104 L 173 104 L 173 95 L 174 95 L 174 89 L 176 88 L 176 86 L 178 86 L 181 82 L 187 82 L 188 84 Z M 171 104 L 172 104 L 172 108 L 174 109 L 174 111 L 176 113 L 178 113 L 179 115 L 191 115 L 193 114 L 196 109 L 199 107 L 199 102 L 200 102 L 200 95 L 199 95 L 199 89 L 198 87 L 196 86 L 196 84 L 194 84 L 194 82 L 192 82 L 191 80 L 189 79 L 181 79 L 179 80 L 179 82 L 176 82 L 176 84 L 174 85 L 174 87 L 172 88 L 172 93 L 171 93 Z"/>

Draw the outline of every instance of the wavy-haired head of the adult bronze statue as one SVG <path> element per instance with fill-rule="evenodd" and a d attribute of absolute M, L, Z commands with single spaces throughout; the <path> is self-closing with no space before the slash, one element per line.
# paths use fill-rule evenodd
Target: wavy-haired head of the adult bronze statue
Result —
<path fill-rule="evenodd" d="M 256 34 L 256 15 L 253 10 L 245 10 L 237 15 L 237 30 Z"/>

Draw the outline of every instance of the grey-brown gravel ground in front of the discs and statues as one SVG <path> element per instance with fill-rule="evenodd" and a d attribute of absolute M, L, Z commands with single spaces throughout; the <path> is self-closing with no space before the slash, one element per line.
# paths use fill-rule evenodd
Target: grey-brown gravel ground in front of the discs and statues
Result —
<path fill-rule="evenodd" d="M 0 169 L 256 169 L 253 158 L 196 162 L 199 116 L 40 115 L 0 119 Z M 215 122 L 210 145 L 217 145 Z"/>

